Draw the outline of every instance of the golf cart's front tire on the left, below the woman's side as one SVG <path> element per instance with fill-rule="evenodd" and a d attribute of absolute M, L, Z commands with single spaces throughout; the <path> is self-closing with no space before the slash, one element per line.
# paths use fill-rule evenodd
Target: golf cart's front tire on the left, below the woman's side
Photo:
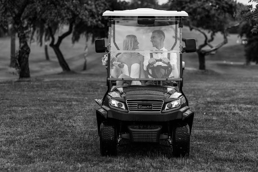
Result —
<path fill-rule="evenodd" d="M 114 124 L 103 121 L 100 125 L 99 144 L 100 154 L 116 156 L 117 154 L 117 129 Z"/>

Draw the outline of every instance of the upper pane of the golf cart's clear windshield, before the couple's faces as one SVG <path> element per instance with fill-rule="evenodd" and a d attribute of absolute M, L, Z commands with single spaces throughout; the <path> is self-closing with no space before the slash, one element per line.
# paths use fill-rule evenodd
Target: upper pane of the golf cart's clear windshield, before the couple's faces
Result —
<path fill-rule="evenodd" d="M 163 37 L 164 50 L 180 51 L 178 21 L 155 19 L 154 24 L 144 25 L 138 24 L 137 20 L 120 19 L 118 21 L 112 21 L 112 23 L 109 42 L 110 51 L 156 50 L 159 40 L 155 38 L 160 35 Z M 153 31 L 156 32 L 153 33 Z M 137 46 L 130 44 L 132 38 L 137 40 Z"/>

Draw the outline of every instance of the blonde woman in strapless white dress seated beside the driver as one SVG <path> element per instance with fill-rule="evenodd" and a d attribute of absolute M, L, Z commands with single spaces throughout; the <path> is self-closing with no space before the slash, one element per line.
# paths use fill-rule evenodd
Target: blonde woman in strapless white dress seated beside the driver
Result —
<path fill-rule="evenodd" d="M 123 42 L 123 50 L 139 49 L 139 42 L 135 35 L 127 35 Z M 131 52 L 122 53 L 117 56 L 116 62 L 113 62 L 114 68 L 111 70 L 111 76 L 114 78 L 145 78 L 145 71 L 143 69 L 144 56 Z M 119 67 L 123 64 L 124 67 Z M 125 79 L 126 80 L 126 79 Z M 142 81 L 144 82 L 144 81 Z M 126 81 L 131 85 L 141 85 L 141 81 Z M 116 81 L 116 85 L 123 85 L 124 81 Z"/>

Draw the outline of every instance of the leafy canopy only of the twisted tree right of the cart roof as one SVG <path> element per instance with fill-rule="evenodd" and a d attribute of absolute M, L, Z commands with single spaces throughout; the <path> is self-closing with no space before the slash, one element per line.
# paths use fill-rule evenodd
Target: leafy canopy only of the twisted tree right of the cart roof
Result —
<path fill-rule="evenodd" d="M 236 11 L 234 0 L 171 0 L 170 3 L 171 10 L 188 13 L 187 24 L 211 32 L 222 32 Z"/>

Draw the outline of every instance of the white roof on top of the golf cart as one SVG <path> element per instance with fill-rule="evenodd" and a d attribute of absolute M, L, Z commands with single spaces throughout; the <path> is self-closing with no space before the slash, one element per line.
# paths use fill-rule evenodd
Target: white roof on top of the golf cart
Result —
<path fill-rule="evenodd" d="M 105 11 L 109 16 L 188 16 L 185 11 L 165 11 L 152 8 L 128 9 L 123 11 Z"/>

